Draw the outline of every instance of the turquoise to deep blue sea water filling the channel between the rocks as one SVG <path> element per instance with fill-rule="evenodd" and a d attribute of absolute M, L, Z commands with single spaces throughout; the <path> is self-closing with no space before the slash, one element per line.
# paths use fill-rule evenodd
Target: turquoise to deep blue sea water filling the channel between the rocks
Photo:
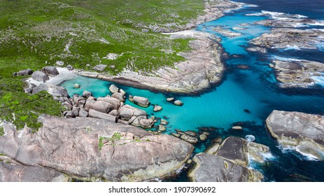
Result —
<path fill-rule="evenodd" d="M 247 13 L 260 13 L 261 10 L 305 15 L 316 20 L 324 19 L 323 1 L 241 1 L 256 4 L 259 7 L 245 7 L 241 10 L 227 13 L 223 18 L 206 22 L 197 27 L 199 31 L 208 31 L 222 38 L 221 44 L 229 54 L 226 59 L 226 71 L 223 81 L 216 87 L 207 90 L 199 96 L 180 94 L 162 94 L 139 90 L 133 87 L 118 85 L 128 94 L 148 97 L 152 104 L 159 104 L 163 110 L 153 112 L 153 105 L 143 109 L 151 116 L 169 121 L 167 134 L 174 129 L 198 131 L 198 127 L 213 127 L 211 136 L 204 143 L 196 146 L 195 153 L 204 151 L 216 137 L 253 135 L 255 141 L 270 147 L 272 156 L 265 165 L 251 163 L 251 167 L 260 170 L 265 175 L 265 181 L 324 181 L 324 162 L 311 160 L 292 150 L 282 150 L 265 129 L 265 119 L 274 109 L 284 111 L 300 111 L 324 115 L 324 88 L 318 83 L 308 89 L 294 88 L 283 90 L 279 88 L 274 76 L 274 70 L 268 65 L 274 57 L 293 59 L 310 59 L 324 62 L 322 50 L 271 50 L 267 54 L 247 52 L 248 41 L 268 32 L 269 27 L 252 25 L 253 22 L 265 19 L 262 16 L 246 16 Z M 248 24 L 241 26 L 241 24 Z M 240 32 L 242 35 L 234 38 L 221 36 L 213 29 L 222 26 L 226 29 Z M 233 30 L 233 27 L 246 29 Z M 314 28 L 314 27 L 311 27 Z M 318 27 L 320 28 L 320 27 Z M 323 27 L 324 28 L 324 27 Z M 249 68 L 239 69 L 237 65 L 245 64 Z M 323 79 L 324 80 L 324 79 Z M 80 89 L 73 88 L 75 83 Z M 95 97 L 110 94 L 106 81 L 83 78 L 81 76 L 62 84 L 70 95 L 82 94 L 89 90 Z M 166 101 L 167 97 L 176 97 L 184 105 L 174 106 Z M 127 104 L 134 104 L 127 101 Z M 248 111 L 248 112 L 246 112 Z M 243 131 L 233 131 L 232 125 L 240 124 Z M 186 181 L 185 173 L 177 179 Z"/>

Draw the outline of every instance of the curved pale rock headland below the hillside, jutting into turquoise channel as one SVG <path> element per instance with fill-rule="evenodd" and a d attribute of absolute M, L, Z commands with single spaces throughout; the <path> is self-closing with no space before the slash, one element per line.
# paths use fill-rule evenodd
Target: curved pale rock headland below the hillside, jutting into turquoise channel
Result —
<path fill-rule="evenodd" d="M 220 45 L 215 43 L 208 34 L 201 32 L 177 34 L 176 37 L 178 36 L 195 38 L 195 40 L 190 41 L 191 52 L 180 54 L 187 60 L 176 64 L 173 68 L 163 67 L 150 76 L 134 71 L 124 71 L 118 76 L 106 76 L 102 73 L 86 71 L 80 71 L 78 74 L 133 87 L 188 94 L 195 94 L 210 87 L 213 83 L 218 83 L 224 71 L 221 57 L 223 50 Z"/>

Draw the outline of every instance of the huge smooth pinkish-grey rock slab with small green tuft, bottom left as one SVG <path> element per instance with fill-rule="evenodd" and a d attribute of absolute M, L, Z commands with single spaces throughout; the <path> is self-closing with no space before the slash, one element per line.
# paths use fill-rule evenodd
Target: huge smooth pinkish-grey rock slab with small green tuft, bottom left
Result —
<path fill-rule="evenodd" d="M 8 162 L 1 162 L 0 181 L 149 181 L 181 168 L 193 150 L 175 137 L 102 119 L 41 122 L 34 134 L 3 125 L 0 153 Z"/>

